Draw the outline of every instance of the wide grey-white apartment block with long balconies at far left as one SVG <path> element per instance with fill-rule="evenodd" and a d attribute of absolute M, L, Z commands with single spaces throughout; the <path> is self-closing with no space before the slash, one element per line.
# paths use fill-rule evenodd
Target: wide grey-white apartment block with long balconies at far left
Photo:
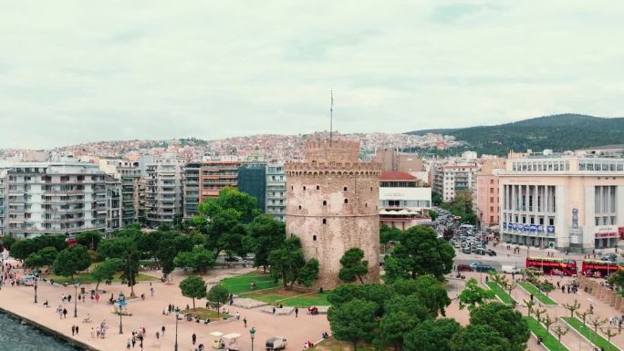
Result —
<path fill-rule="evenodd" d="M 106 182 L 97 165 L 15 163 L 0 174 L 5 188 L 5 235 L 28 238 L 106 229 Z"/>

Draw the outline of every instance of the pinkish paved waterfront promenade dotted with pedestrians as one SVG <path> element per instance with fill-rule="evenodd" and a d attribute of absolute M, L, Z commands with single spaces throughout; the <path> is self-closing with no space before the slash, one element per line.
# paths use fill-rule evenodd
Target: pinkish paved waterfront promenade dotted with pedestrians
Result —
<path fill-rule="evenodd" d="M 248 272 L 249 270 L 225 270 L 217 269 L 211 271 L 204 276 L 204 280 L 210 283 L 218 282 L 220 279 L 231 276 L 232 274 Z M 158 272 L 147 272 L 154 276 L 160 276 Z M 74 299 L 70 304 L 61 303 L 62 294 L 74 294 L 74 287 L 60 287 L 51 284 L 40 283 L 37 289 L 38 304 L 34 303 L 34 288 L 32 286 L 3 286 L 0 291 L 0 307 L 11 311 L 16 315 L 22 315 L 27 319 L 36 321 L 41 325 L 45 325 L 57 333 L 71 336 L 71 326 L 78 325 L 79 334 L 73 336 L 74 339 L 87 344 L 93 349 L 101 351 L 124 350 L 126 342 L 131 336 L 132 330 L 139 330 L 141 327 L 146 329 L 146 339 L 143 343 L 144 350 L 173 350 L 175 340 L 175 317 L 172 315 L 162 315 L 163 309 L 169 305 L 178 305 L 181 309 L 187 304 L 192 305 L 192 300 L 185 298 L 178 288 L 179 282 L 183 279 L 181 274 L 174 276 L 173 284 L 152 283 L 155 294 L 150 295 L 150 286 L 148 283 L 140 283 L 135 285 L 135 294 L 145 294 L 146 299 L 130 300 L 128 310 L 131 316 L 123 316 L 123 334 L 120 335 L 120 317 L 111 312 L 113 306 L 109 305 L 108 300 L 110 294 L 115 298 L 120 292 L 130 296 L 130 288 L 126 285 L 113 284 L 102 285 L 100 290 L 106 290 L 106 294 L 101 294 L 99 303 L 91 301 L 78 302 L 78 318 L 73 317 Z M 89 291 L 95 285 L 85 285 Z M 49 308 L 43 306 L 45 301 L 50 304 Z M 89 299 L 88 299 L 89 300 Z M 56 313 L 58 305 L 62 305 L 68 310 L 67 319 L 60 319 Z M 197 306 L 204 306 L 205 299 L 196 300 Z M 303 348 L 303 344 L 307 340 L 313 342 L 320 339 L 323 332 L 329 332 L 329 324 L 326 315 L 307 315 L 301 311 L 298 317 L 295 315 L 267 315 L 259 310 L 247 310 L 234 306 L 228 306 L 231 315 L 239 312 L 240 320 L 232 318 L 229 321 L 220 321 L 203 325 L 195 322 L 179 321 L 178 322 L 178 342 L 180 350 L 194 350 L 192 346 L 191 336 L 193 333 L 197 336 L 197 343 L 203 344 L 206 350 L 213 345 L 213 336 L 208 334 L 219 331 L 224 334 L 239 333 L 238 340 L 241 350 L 251 350 L 251 340 L 249 336 L 249 328 L 255 326 L 257 330 L 255 334 L 255 349 L 264 349 L 265 340 L 272 336 L 284 336 L 287 338 L 289 347 L 292 350 Z M 82 323 L 83 318 L 87 315 L 91 316 L 93 322 L 91 324 Z M 243 316 L 247 318 L 247 327 L 243 325 Z M 105 339 L 91 338 L 91 327 L 95 329 L 100 322 L 106 321 L 109 326 Z M 161 330 L 161 326 L 165 326 L 165 334 L 161 336 L 159 342 L 156 341 L 156 332 Z M 27 342 L 25 340 L 25 342 Z M 131 347 L 130 347 L 131 348 Z M 135 350 L 140 350 L 137 344 Z"/>

